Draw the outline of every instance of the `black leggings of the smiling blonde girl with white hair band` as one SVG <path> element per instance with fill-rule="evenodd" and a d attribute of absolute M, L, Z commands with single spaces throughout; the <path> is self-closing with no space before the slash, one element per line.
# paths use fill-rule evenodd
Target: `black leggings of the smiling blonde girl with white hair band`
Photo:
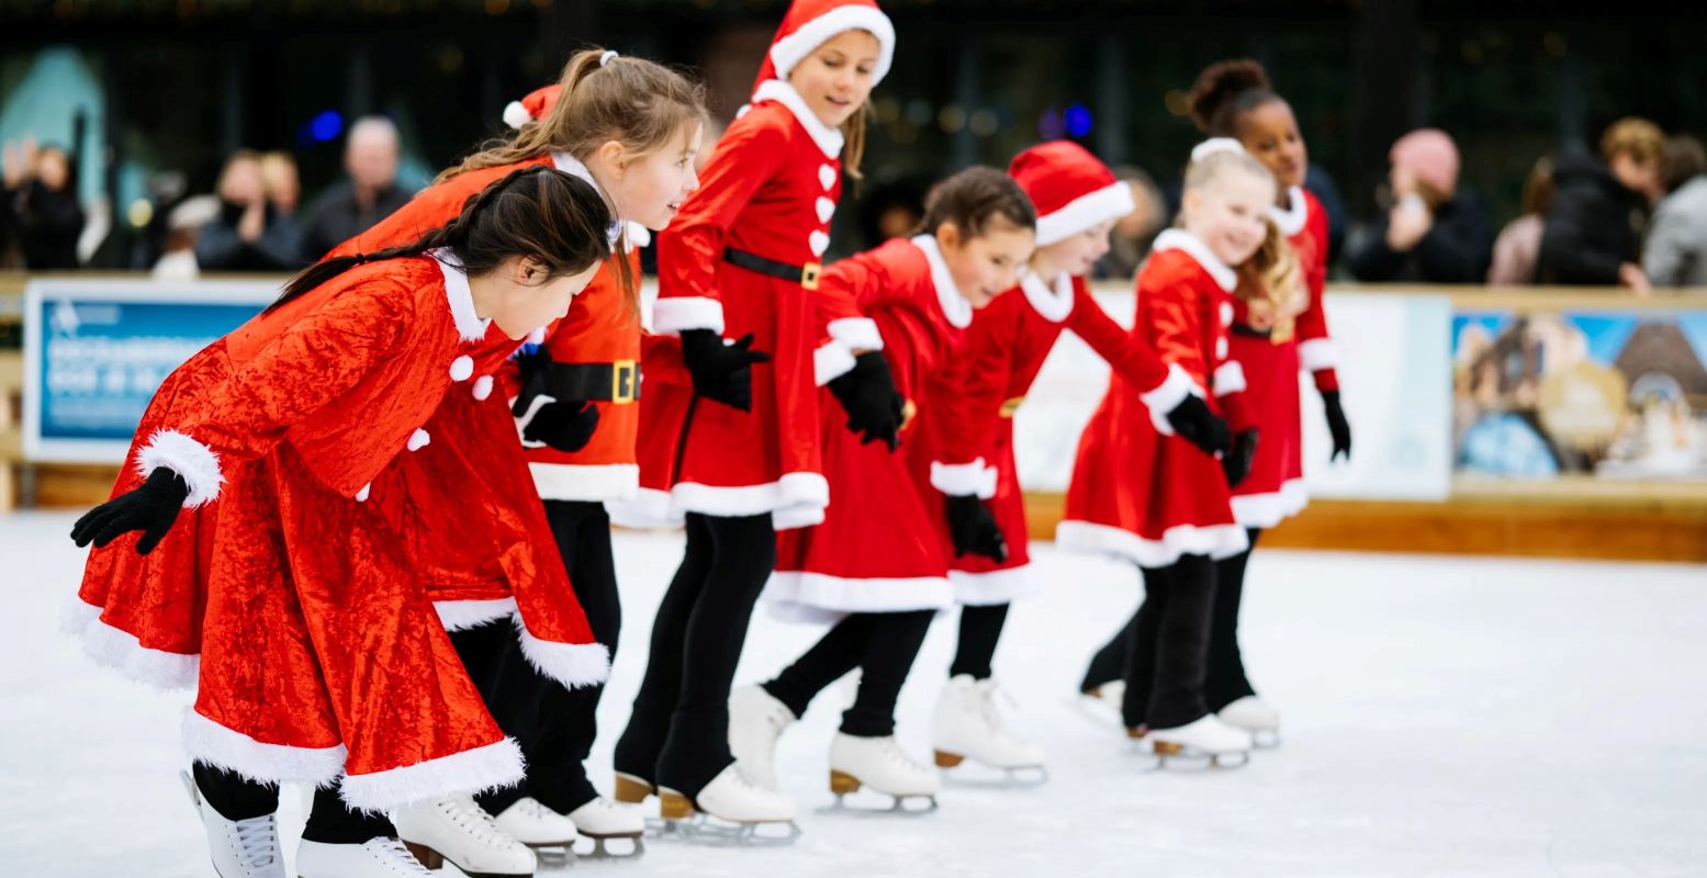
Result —
<path fill-rule="evenodd" d="M 1151 728 L 1176 728 L 1209 714 L 1209 622 L 1215 603 L 1215 564 L 1183 555 L 1166 569 L 1168 605 L 1157 618 L 1156 688 L 1145 716 Z"/>

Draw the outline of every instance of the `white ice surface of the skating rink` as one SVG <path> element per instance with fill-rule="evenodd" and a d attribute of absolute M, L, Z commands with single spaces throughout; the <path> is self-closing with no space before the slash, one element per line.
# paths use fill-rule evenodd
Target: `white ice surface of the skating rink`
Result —
<path fill-rule="evenodd" d="M 174 777 L 184 699 L 118 682 L 56 634 L 82 571 L 70 523 L 0 518 L 0 876 L 212 875 Z M 616 548 L 626 629 L 599 784 L 679 538 L 621 535 Z M 997 676 L 1019 702 L 1014 724 L 1048 752 L 1048 784 L 951 784 L 918 818 L 821 813 L 842 687 L 782 741 L 806 832 L 794 847 L 657 840 L 640 863 L 570 873 L 1707 875 L 1704 567 L 1261 550 L 1243 641 L 1285 745 L 1239 770 L 1154 772 L 1072 699 L 1089 653 L 1137 603 L 1137 577 L 1038 555 L 1048 596 L 1012 613 Z M 937 622 L 901 697 L 900 735 L 920 758 L 953 622 Z M 760 612 L 741 680 L 775 673 L 816 634 Z M 300 810 L 285 796 L 287 856 Z"/>

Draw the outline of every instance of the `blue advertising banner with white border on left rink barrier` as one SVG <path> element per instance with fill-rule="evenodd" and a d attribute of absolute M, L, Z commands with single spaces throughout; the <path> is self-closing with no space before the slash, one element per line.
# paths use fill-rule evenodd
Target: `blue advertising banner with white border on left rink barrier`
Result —
<path fill-rule="evenodd" d="M 38 280 L 24 290 L 24 456 L 123 463 L 167 374 L 278 296 L 278 284 Z"/>

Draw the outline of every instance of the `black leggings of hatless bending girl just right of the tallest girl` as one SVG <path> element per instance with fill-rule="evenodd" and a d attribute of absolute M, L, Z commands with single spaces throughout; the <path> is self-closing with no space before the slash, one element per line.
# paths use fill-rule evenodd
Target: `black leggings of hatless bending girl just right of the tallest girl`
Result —
<path fill-rule="evenodd" d="M 842 714 L 842 731 L 855 738 L 894 735 L 894 702 L 901 697 L 906 673 L 913 670 L 918 647 L 930 630 L 932 610 L 901 613 L 852 613 L 836 622 L 765 692 L 794 711 L 806 714 L 813 697 L 854 668 L 860 668 L 854 707 Z"/>

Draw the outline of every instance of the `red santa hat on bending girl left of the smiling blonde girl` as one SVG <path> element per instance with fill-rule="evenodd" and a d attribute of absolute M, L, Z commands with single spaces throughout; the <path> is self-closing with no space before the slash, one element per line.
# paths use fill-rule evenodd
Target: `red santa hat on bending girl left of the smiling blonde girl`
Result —
<path fill-rule="evenodd" d="M 1038 208 L 1038 246 L 1137 210 L 1132 186 L 1115 179 L 1108 166 L 1070 140 L 1052 140 L 1014 155 L 1007 176 Z"/>

